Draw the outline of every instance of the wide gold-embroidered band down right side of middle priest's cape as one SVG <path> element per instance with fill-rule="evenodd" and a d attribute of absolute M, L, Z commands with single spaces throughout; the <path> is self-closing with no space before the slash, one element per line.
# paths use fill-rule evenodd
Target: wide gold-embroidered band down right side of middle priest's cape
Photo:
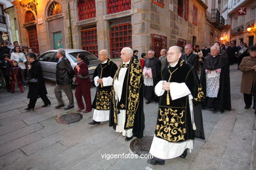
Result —
<path fill-rule="evenodd" d="M 125 128 L 129 129 L 133 127 L 135 120 L 135 113 L 137 112 L 137 108 L 139 106 L 139 91 L 141 86 L 141 78 L 142 78 L 142 70 L 140 65 L 136 59 L 131 63 L 131 71 L 130 71 L 130 83 L 128 87 L 128 107 L 126 110 L 127 123 L 125 124 Z"/>

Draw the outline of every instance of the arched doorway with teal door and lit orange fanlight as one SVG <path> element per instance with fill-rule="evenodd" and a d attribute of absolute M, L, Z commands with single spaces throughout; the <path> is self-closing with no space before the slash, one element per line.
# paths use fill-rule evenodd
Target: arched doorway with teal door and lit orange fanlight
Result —
<path fill-rule="evenodd" d="M 53 1 L 47 10 L 47 21 L 51 37 L 51 48 L 64 48 L 64 22 L 61 5 Z"/>

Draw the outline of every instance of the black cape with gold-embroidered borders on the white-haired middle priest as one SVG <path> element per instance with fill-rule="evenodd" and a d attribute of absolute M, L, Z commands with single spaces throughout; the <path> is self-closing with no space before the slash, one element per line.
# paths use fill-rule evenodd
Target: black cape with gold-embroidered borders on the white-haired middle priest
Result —
<path fill-rule="evenodd" d="M 119 65 L 114 80 L 118 77 L 122 64 Z M 142 69 L 139 61 L 132 58 L 127 66 L 123 82 L 123 91 L 121 100 L 116 102 L 115 92 L 112 90 L 110 103 L 110 121 L 109 125 L 116 129 L 117 114 L 119 109 L 126 110 L 125 127 L 124 129 L 133 128 L 133 136 L 141 138 L 144 131 L 144 110 L 143 110 L 143 79 Z"/>

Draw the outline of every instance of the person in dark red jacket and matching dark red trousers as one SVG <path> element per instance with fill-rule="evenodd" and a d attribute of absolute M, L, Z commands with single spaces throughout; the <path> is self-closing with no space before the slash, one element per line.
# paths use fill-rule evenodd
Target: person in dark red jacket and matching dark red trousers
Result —
<path fill-rule="evenodd" d="M 83 109 L 85 109 L 82 97 L 83 99 L 85 99 L 86 104 L 86 110 L 84 111 L 84 113 L 91 112 L 91 80 L 87 67 L 87 65 L 89 65 L 89 59 L 85 57 L 85 54 L 79 53 L 77 55 L 77 61 L 78 63 L 74 69 L 74 75 L 76 77 L 75 83 L 77 84 L 77 87 L 75 89 L 75 98 L 79 107 L 77 112 L 81 112 Z"/>

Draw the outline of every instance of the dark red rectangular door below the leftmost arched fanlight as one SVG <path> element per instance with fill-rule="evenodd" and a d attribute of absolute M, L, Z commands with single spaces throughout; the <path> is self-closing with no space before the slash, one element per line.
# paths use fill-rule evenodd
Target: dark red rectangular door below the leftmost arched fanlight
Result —
<path fill-rule="evenodd" d="M 28 31 L 28 41 L 30 43 L 30 48 L 32 48 L 33 52 L 39 54 L 36 25 L 27 27 L 27 31 Z"/>

